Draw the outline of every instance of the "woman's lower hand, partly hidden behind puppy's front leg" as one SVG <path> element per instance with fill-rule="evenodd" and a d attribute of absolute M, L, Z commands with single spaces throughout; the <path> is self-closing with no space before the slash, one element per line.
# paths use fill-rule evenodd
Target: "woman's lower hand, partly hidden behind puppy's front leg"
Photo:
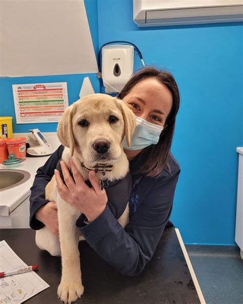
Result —
<path fill-rule="evenodd" d="M 50 232 L 59 236 L 57 206 L 55 202 L 48 202 L 35 213 L 35 218 L 47 227 Z"/>

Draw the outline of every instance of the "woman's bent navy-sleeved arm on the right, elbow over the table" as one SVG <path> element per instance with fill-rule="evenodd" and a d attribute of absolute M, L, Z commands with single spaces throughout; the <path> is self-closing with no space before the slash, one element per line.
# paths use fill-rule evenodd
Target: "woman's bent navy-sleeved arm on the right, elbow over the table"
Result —
<path fill-rule="evenodd" d="M 80 218 L 78 230 L 90 246 L 120 273 L 137 275 L 152 258 L 169 220 L 179 172 L 164 182 L 157 182 L 123 227 L 107 205 L 104 212 L 85 225 Z"/>

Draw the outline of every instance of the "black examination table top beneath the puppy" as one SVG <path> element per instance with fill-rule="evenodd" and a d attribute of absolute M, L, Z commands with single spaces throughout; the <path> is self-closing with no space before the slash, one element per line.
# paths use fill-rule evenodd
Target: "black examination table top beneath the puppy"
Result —
<path fill-rule="evenodd" d="M 26 304 L 61 303 L 57 286 L 61 277 L 60 257 L 40 251 L 31 229 L 2 229 L 0 240 L 36 272 L 50 287 L 25 301 Z M 173 227 L 166 228 L 152 260 L 137 276 L 119 274 L 85 241 L 79 242 L 84 295 L 80 304 L 200 304 L 188 265 Z"/>

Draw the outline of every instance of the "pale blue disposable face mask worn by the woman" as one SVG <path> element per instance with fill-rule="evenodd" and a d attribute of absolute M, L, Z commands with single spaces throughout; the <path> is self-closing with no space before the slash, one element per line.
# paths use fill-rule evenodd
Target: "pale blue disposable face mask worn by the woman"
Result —
<path fill-rule="evenodd" d="M 124 137 L 124 148 L 127 150 L 139 150 L 150 145 L 155 145 L 158 143 L 160 133 L 163 129 L 163 126 L 158 126 L 136 116 L 136 127 L 131 136 L 131 146 L 127 146 L 127 141 Z"/>

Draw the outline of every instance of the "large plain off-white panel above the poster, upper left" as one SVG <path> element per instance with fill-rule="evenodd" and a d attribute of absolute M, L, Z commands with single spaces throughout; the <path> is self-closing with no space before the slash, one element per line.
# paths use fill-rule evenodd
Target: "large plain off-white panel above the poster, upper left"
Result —
<path fill-rule="evenodd" d="M 0 2 L 0 76 L 98 72 L 84 0 Z"/>

